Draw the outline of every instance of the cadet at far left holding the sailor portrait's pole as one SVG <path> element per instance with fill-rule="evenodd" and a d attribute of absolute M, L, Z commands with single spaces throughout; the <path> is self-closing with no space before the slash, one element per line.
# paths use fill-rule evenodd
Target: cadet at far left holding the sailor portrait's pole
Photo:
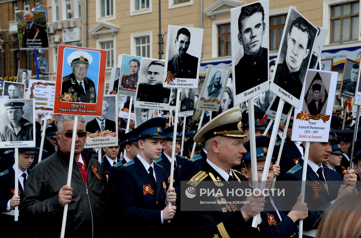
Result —
<path fill-rule="evenodd" d="M 34 155 L 37 153 L 35 147 L 31 148 L 19 148 L 19 166 L 15 168 L 15 164 L 9 169 L 0 173 L 0 223 L 3 228 L 6 228 L 9 232 L 17 232 L 19 236 L 26 235 L 27 237 L 34 237 L 34 233 L 31 228 L 28 228 L 26 221 L 21 219 L 14 221 L 15 206 L 19 206 L 22 203 L 24 195 L 24 186 L 26 179 L 30 173 L 30 165 L 34 161 Z M 14 188 L 14 176 L 15 169 L 18 169 L 19 176 L 19 195 L 15 196 Z M 20 210 L 20 209 L 19 209 Z M 2 214 L 1 214 L 2 213 Z"/>

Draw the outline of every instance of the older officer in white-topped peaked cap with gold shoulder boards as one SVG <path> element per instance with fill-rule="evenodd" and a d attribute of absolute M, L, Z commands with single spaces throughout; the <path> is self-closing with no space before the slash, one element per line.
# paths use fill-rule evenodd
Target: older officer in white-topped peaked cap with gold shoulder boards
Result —
<path fill-rule="evenodd" d="M 242 113 L 239 107 L 231 108 L 219 114 L 212 121 L 201 128 L 194 137 L 195 142 L 205 142 L 207 159 L 203 167 L 188 179 L 188 185 L 198 189 L 203 181 L 213 181 L 217 186 L 224 186 L 230 181 L 240 181 L 242 174 L 234 169 L 239 165 L 242 156 L 247 152 L 243 147 L 245 134 L 242 130 Z M 224 182 L 222 182 L 224 181 Z M 227 182 L 226 182 L 227 181 Z M 220 183 L 219 183 L 220 182 Z M 231 186 L 231 184 L 229 184 Z M 202 185 L 201 185 L 202 186 Z M 255 211 L 263 211 L 265 199 L 261 197 L 248 197 L 249 204 Z M 183 197 L 182 197 L 183 199 Z M 222 198 L 223 199 L 223 198 Z M 216 204 L 216 206 L 218 206 Z M 202 209 L 202 211 L 181 211 L 184 227 L 193 224 L 192 232 L 181 230 L 187 237 L 246 237 L 253 235 L 259 237 L 257 228 L 246 223 L 258 212 L 239 211 L 235 204 L 218 211 Z M 185 235 L 185 234 L 184 234 Z"/>

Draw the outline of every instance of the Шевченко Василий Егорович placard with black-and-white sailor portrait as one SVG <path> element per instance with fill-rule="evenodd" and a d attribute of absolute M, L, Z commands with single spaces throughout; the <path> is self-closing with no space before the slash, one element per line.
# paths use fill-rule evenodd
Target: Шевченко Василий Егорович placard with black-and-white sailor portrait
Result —
<path fill-rule="evenodd" d="M 34 99 L 0 99 L 0 148 L 35 147 Z"/>

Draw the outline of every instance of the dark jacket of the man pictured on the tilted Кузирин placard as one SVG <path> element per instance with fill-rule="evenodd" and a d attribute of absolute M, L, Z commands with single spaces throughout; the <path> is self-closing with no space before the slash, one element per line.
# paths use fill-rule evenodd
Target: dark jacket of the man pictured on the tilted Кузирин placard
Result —
<path fill-rule="evenodd" d="M 292 96 L 300 98 L 303 87 L 300 80 L 300 70 L 290 72 L 286 64 L 286 59 L 284 59 L 282 64 L 277 64 L 277 72 L 275 72 L 274 83 L 289 92 Z M 279 72 L 282 72 L 282 74 Z"/>

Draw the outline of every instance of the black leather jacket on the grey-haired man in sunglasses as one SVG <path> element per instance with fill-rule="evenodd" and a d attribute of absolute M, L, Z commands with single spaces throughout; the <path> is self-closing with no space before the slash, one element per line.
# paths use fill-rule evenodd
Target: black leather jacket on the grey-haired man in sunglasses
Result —
<path fill-rule="evenodd" d="M 69 237 L 101 237 L 109 227 L 106 220 L 106 177 L 101 164 L 83 151 L 87 165 L 87 185 L 74 159 L 71 187 L 73 196 L 68 205 L 65 234 Z M 60 149 L 37 164 L 25 185 L 20 216 L 34 222 L 37 238 L 60 237 L 64 212 L 58 201 L 59 190 L 66 185 L 69 156 Z"/>

